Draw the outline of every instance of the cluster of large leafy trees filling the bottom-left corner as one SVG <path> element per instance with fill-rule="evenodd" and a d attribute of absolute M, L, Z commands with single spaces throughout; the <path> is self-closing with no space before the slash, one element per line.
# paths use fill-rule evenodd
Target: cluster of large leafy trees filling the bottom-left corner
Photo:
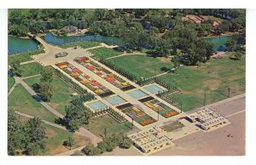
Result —
<path fill-rule="evenodd" d="M 15 111 L 8 111 L 8 154 L 10 156 L 44 155 L 45 139 L 45 128 L 40 118 L 31 118 L 23 124 L 15 116 Z"/>

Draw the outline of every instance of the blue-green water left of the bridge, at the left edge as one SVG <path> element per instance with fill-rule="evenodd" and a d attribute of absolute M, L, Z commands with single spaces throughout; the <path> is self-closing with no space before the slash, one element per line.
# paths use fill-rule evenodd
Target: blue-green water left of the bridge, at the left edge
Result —
<path fill-rule="evenodd" d="M 36 50 L 37 48 L 38 44 L 32 41 L 32 39 L 8 37 L 8 54 L 20 54 L 28 50 Z"/>

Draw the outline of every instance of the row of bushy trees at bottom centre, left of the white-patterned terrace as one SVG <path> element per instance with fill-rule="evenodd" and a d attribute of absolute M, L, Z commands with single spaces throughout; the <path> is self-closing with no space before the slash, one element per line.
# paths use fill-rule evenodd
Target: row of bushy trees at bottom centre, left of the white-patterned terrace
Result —
<path fill-rule="evenodd" d="M 96 147 L 92 144 L 86 145 L 83 152 L 88 156 L 99 156 L 105 151 L 113 151 L 117 146 L 120 148 L 128 149 L 132 145 L 131 139 L 123 134 L 112 134 L 106 136 L 103 141 L 100 142 Z"/>

